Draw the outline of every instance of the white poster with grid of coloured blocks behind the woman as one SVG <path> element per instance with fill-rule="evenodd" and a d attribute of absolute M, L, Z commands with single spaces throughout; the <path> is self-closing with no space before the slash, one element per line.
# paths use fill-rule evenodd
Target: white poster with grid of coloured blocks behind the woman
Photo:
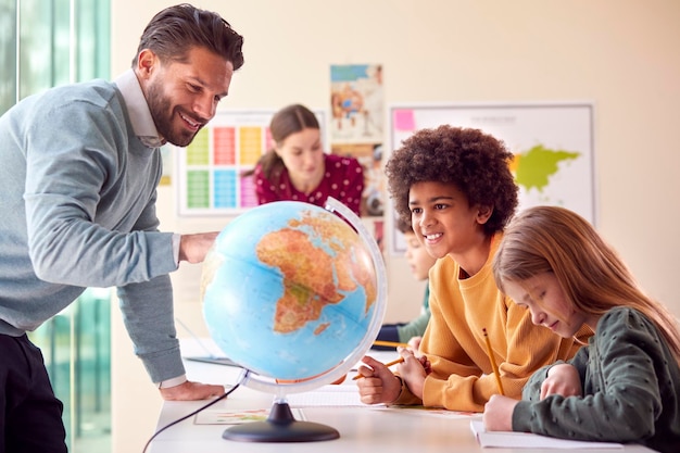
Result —
<path fill-rule="evenodd" d="M 313 111 L 324 140 L 326 114 Z M 188 147 L 174 150 L 178 215 L 237 215 L 257 205 L 253 178 L 242 174 L 254 168 L 272 148 L 269 122 L 275 113 L 276 110 L 217 112 Z"/>

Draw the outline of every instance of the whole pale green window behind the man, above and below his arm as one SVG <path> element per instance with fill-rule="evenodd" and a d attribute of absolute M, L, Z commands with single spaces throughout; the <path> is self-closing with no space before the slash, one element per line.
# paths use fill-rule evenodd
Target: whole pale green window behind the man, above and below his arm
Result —
<path fill-rule="evenodd" d="M 110 0 L 0 0 L 0 114 L 50 87 L 110 78 Z M 110 290 L 88 289 L 30 339 L 64 403 L 68 451 L 111 451 Z"/>

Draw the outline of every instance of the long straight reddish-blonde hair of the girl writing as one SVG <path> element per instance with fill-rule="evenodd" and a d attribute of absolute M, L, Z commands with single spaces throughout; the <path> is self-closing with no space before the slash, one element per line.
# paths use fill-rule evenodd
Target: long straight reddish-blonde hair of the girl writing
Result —
<path fill-rule="evenodd" d="M 521 284 L 543 273 L 555 275 L 567 301 L 579 312 L 600 316 L 615 306 L 640 311 L 658 327 L 680 363 L 676 318 L 644 293 L 590 223 L 564 207 L 536 206 L 518 214 L 493 259 L 501 291 L 507 281 Z"/>

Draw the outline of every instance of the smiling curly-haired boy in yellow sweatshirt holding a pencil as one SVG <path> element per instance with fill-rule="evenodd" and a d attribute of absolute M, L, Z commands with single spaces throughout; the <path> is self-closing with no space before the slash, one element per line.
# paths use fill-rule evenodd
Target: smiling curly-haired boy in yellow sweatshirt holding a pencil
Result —
<path fill-rule="evenodd" d="M 421 129 L 392 153 L 386 173 L 396 211 L 438 257 L 429 278 L 432 314 L 420 343 L 424 356 L 398 349 L 405 361 L 399 376 L 364 357 L 367 366 L 358 373 L 365 378 L 356 381 L 364 403 L 482 412 L 499 392 L 484 328 L 511 398 L 520 398 L 533 372 L 580 348 L 574 338 L 533 326 L 493 280 L 491 260 L 517 206 L 512 159 L 495 138 L 451 126 Z M 583 334 L 592 332 L 584 327 Z"/>

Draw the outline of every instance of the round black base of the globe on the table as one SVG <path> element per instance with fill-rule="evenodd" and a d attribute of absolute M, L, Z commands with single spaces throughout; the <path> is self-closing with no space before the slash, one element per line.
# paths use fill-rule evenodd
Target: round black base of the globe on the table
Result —
<path fill-rule="evenodd" d="M 300 421 L 288 403 L 275 402 L 265 421 L 252 421 L 225 429 L 222 437 L 239 442 L 317 442 L 340 437 L 330 426 Z"/>

